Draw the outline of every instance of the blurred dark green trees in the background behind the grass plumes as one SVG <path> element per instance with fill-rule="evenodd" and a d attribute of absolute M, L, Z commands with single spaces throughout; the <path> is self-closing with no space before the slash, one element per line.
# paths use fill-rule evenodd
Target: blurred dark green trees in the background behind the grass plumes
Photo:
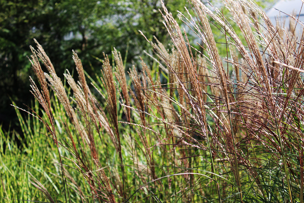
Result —
<path fill-rule="evenodd" d="M 176 15 L 188 2 L 164 4 Z M 150 40 L 155 35 L 167 41 L 158 9 L 160 0 L 0 0 L 0 124 L 6 128 L 12 119 L 16 122 L 10 98 L 19 106 L 30 105 L 33 98 L 28 80 L 33 72 L 26 57 L 31 55 L 29 45 L 35 47 L 33 38 L 47 52 L 58 76 L 74 67 L 72 49 L 92 74 L 90 64 L 101 68 L 92 56 L 102 58 L 102 52 L 110 54 L 113 47 L 124 56 L 128 45 L 127 62 L 136 62 L 149 46 L 138 30 Z"/>

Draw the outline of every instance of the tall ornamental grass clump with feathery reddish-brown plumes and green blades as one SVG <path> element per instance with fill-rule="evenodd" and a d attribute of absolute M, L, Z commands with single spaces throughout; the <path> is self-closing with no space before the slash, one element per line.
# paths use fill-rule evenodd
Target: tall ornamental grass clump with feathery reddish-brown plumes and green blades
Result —
<path fill-rule="evenodd" d="M 2 197 L 49 202 L 303 202 L 304 40 L 295 31 L 303 23 L 291 18 L 289 29 L 273 25 L 250 0 L 226 0 L 231 16 L 211 11 L 198 0 L 191 3 L 194 16 L 186 10 L 176 18 L 203 45 L 195 48 L 163 5 L 173 47 L 150 42 L 158 65 L 142 61 L 140 73 L 135 66 L 126 70 L 114 49 L 115 63 L 104 55 L 102 77 L 95 82 L 86 77 L 74 52 L 78 80 L 67 70 L 64 85 L 36 41 L 30 60 L 40 88 L 30 81 L 43 114 L 38 107 L 29 112 L 34 132 L 30 123 L 22 120 L 22 126 L 46 140 L 36 155 L 45 154 L 48 158 L 38 162 L 48 167 L 38 169 L 29 160 L 32 172 L 18 169 L 29 182 L 20 185 L 16 178 L 13 183 L 4 180 L 14 170 L 7 165 L 18 166 L 2 165 Z M 225 38 L 225 57 L 218 52 L 210 24 Z M 1 142 L 3 138 L 4 133 Z M 24 146 L 31 147 L 37 149 L 34 144 Z M 1 161 L 10 160 L 5 158 L 15 151 L 9 148 Z M 18 190 L 16 185 L 26 192 L 9 193 L 9 188 Z"/>

